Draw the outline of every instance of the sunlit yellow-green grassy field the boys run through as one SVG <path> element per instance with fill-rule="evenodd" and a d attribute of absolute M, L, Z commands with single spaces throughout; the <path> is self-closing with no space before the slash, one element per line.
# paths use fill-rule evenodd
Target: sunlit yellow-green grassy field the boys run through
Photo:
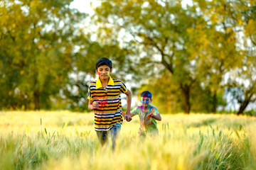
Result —
<path fill-rule="evenodd" d="M 256 118 L 162 115 L 142 140 L 124 122 L 114 151 L 101 147 L 93 113 L 0 112 L 0 169 L 256 169 Z"/>

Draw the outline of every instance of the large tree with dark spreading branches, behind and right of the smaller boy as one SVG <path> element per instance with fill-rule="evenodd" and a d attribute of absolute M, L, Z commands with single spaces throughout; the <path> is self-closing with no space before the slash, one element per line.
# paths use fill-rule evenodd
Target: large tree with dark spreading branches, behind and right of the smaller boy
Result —
<path fill-rule="evenodd" d="M 159 68 L 157 65 L 161 65 L 161 69 L 169 71 L 172 82 L 183 96 L 183 111 L 189 113 L 191 86 L 201 74 L 198 72 L 201 58 L 198 48 L 192 47 L 193 37 L 189 30 L 206 25 L 196 8 L 183 8 L 181 1 L 102 1 L 95 11 L 97 21 L 108 28 L 106 34 L 118 37 L 129 33 L 127 44 L 126 37 L 123 37 L 123 44 L 134 45 L 140 52 L 143 50 L 139 55 L 139 66 Z M 200 34 L 196 33 L 198 37 Z M 159 73 L 152 67 L 146 67 L 146 70 Z"/>

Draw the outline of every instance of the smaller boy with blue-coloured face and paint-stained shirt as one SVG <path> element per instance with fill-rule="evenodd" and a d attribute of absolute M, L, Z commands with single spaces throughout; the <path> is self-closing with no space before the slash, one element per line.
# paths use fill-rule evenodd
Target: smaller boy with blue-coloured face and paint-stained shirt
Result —
<path fill-rule="evenodd" d="M 146 133 L 158 133 L 156 120 L 161 121 L 161 115 L 156 107 L 149 104 L 151 101 L 152 94 L 149 91 L 143 91 L 141 94 L 142 106 L 137 106 L 131 112 L 131 116 L 139 115 L 139 135 L 142 136 L 145 136 Z"/>

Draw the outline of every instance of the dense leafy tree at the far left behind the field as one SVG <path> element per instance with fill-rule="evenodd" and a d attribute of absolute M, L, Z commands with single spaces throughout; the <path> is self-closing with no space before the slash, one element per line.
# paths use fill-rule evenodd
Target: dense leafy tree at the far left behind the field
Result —
<path fill-rule="evenodd" d="M 0 2 L 1 108 L 50 108 L 68 82 L 85 18 L 70 2 Z"/>

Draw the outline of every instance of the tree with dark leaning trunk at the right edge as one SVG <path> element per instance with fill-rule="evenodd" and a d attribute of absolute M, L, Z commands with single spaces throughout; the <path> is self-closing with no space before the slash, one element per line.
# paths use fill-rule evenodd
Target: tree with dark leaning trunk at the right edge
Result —
<path fill-rule="evenodd" d="M 238 1 L 240 8 L 238 11 L 241 15 L 239 21 L 242 47 L 242 60 L 240 67 L 233 69 L 230 74 L 229 87 L 239 89 L 233 93 L 233 97 L 240 104 L 238 115 L 242 114 L 250 103 L 256 101 L 256 57 L 255 57 L 255 23 L 256 23 L 256 2 L 255 1 Z"/>

